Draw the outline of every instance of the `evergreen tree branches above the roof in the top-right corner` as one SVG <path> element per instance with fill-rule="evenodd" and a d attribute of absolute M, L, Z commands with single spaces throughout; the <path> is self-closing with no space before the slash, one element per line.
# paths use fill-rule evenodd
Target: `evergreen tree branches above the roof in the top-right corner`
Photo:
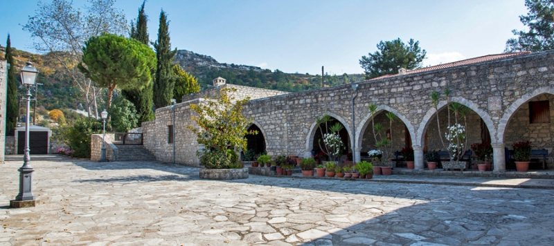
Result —
<path fill-rule="evenodd" d="M 554 49 L 554 1 L 526 0 L 529 12 L 519 20 L 529 30 L 512 30 L 517 38 L 506 41 L 505 52 L 542 51 Z"/>

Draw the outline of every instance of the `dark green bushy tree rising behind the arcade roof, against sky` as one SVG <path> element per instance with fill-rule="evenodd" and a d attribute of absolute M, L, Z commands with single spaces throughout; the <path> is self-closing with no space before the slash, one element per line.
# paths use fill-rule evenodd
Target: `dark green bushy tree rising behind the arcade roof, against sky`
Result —
<path fill-rule="evenodd" d="M 402 40 L 380 41 L 377 51 L 365 55 L 359 60 L 361 68 L 366 70 L 366 78 L 371 79 L 382 75 L 398 73 L 398 68 L 412 70 L 420 68 L 427 52 L 419 46 L 419 41 L 410 39 L 408 44 Z"/>

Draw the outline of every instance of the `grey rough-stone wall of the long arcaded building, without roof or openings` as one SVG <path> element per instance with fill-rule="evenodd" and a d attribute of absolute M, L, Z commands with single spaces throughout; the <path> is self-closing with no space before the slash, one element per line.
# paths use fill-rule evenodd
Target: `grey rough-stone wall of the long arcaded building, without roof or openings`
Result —
<path fill-rule="evenodd" d="M 400 133 L 399 139 L 402 139 L 400 122 L 404 123 L 415 150 L 416 168 L 421 169 L 425 133 L 428 128 L 434 131 L 433 125 L 436 124 L 434 121 L 436 110 L 431 105 L 430 95 L 432 91 L 442 92 L 446 88 L 452 91 L 449 102 L 458 102 L 473 111 L 470 115 L 473 127 L 470 128 L 468 144 L 480 142 L 479 118 L 481 118 L 490 131 L 495 170 L 502 171 L 505 130 L 512 127 L 508 126 L 512 116 L 517 115 L 520 106 L 524 106 L 537 95 L 545 93 L 554 95 L 554 51 L 359 83 L 354 106 L 356 126 L 354 133 L 352 133 L 351 99 L 355 92 L 349 84 L 251 100 L 244 107 L 243 114 L 251 118 L 253 124 L 262 131 L 269 155 L 305 157 L 311 155 L 316 132 L 316 117 L 321 117 L 323 114 L 331 115 L 345 126 L 348 135 L 355 136 L 356 158 L 359 160 L 359 151 L 362 149 L 365 151 L 364 148 L 367 148 L 364 137 L 360 137 L 366 135 L 370 122 L 367 107 L 374 103 L 377 104 L 379 111 L 390 111 L 397 115 L 399 124 L 393 126 L 393 134 Z M 200 97 L 199 93 L 197 96 Z M 249 96 L 252 97 L 252 95 Z M 183 99 L 190 100 L 188 97 Z M 176 106 L 175 132 L 177 155 L 179 155 L 176 162 L 194 165 L 198 160 L 193 153 L 199 147 L 195 136 L 186 129 L 188 124 L 192 124 L 190 103 L 199 102 L 186 102 Z M 447 101 L 443 97 L 443 100 L 438 102 L 438 108 L 442 111 L 445 106 Z M 148 131 L 152 131 L 148 133 L 148 138 L 154 138 L 149 148 L 155 149 L 152 152 L 156 154 L 158 160 L 166 162 L 172 161 L 172 144 L 166 143 L 167 126 L 171 124 L 170 111 L 168 107 L 159 108 L 156 111 L 157 120 L 151 125 L 147 124 Z M 515 118 L 518 117 L 515 116 Z M 479 125 L 474 126 L 478 121 Z M 539 138 L 538 133 L 542 130 L 544 133 L 545 129 L 529 130 L 530 138 L 531 134 L 535 133 Z M 506 142 L 511 141 L 509 136 L 511 133 L 509 131 L 507 133 Z M 428 142 L 430 148 L 434 149 L 437 141 L 431 135 L 428 135 L 431 137 Z M 540 141 L 548 142 L 549 137 L 540 138 L 542 138 Z"/>

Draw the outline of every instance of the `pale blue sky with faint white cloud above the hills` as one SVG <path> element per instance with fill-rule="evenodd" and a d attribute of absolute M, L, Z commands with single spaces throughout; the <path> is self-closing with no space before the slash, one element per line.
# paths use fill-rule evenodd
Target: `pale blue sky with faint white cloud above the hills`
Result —
<path fill-rule="evenodd" d="M 48 3 L 49 0 L 43 0 Z M 135 19 L 142 0 L 117 0 L 115 8 Z M 83 7 L 85 0 L 73 0 Z M 35 15 L 37 1 L 3 0 L 0 40 L 35 51 L 21 29 Z M 157 38 L 161 10 L 170 20 L 173 48 L 210 55 L 222 63 L 260 66 L 285 73 L 363 73 L 359 59 L 375 53 L 379 41 L 420 41 L 424 66 L 502 53 L 511 30 L 525 30 L 524 0 L 370 1 L 150 0 L 150 39 Z"/>

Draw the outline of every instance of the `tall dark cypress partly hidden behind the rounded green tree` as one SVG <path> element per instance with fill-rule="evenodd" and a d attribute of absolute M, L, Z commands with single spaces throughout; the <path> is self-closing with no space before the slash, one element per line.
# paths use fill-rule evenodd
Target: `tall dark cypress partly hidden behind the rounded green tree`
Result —
<path fill-rule="evenodd" d="M 144 13 L 144 3 L 139 8 L 139 17 L 136 19 L 136 24 L 131 27 L 131 37 L 140 41 L 141 43 L 148 45 L 150 40 L 148 37 L 148 16 Z M 148 84 L 141 90 L 129 89 L 121 90 L 121 94 L 132 102 L 136 108 L 136 113 L 139 115 L 139 126 L 142 122 L 148 122 L 154 120 L 154 113 L 152 112 L 152 83 Z"/>

